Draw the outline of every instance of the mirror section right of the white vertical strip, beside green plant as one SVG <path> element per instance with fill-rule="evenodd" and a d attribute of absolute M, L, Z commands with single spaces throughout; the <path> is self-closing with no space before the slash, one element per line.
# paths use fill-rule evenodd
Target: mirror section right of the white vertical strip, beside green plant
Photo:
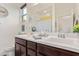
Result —
<path fill-rule="evenodd" d="M 73 33 L 73 26 L 76 21 L 76 5 L 74 3 L 56 3 L 55 21 L 56 32 Z"/>

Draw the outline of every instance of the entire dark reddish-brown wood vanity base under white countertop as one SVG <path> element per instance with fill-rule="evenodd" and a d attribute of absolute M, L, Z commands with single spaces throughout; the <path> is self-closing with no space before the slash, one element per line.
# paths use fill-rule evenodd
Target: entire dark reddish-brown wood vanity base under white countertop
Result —
<path fill-rule="evenodd" d="M 48 46 L 41 43 L 15 38 L 16 56 L 79 56 L 79 53 Z"/>

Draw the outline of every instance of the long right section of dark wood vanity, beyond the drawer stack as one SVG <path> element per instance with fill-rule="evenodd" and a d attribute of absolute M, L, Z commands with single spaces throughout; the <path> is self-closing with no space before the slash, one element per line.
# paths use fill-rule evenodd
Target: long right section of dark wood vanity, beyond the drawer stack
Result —
<path fill-rule="evenodd" d="M 37 55 L 38 56 L 79 56 L 79 53 L 38 43 Z"/>

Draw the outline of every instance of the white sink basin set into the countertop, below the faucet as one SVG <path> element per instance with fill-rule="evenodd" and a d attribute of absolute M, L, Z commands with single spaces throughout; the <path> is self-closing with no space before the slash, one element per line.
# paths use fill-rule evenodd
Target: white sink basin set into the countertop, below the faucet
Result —
<path fill-rule="evenodd" d="M 76 41 L 72 40 L 72 39 L 67 39 L 67 38 L 58 38 L 58 37 L 49 37 L 44 39 L 43 41 L 48 41 L 48 42 L 56 42 L 56 43 L 64 43 L 64 44 L 75 44 Z"/>

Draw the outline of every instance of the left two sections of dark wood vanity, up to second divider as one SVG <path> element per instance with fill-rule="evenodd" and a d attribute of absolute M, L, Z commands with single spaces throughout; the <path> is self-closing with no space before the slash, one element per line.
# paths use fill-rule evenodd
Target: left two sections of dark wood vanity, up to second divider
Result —
<path fill-rule="evenodd" d="M 15 38 L 15 56 L 36 56 L 37 43 Z"/>

